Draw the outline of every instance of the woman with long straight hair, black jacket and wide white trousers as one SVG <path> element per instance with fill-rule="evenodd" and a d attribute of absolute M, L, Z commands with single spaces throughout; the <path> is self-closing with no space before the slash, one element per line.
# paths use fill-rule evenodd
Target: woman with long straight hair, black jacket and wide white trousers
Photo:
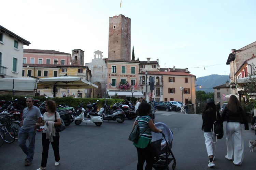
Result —
<path fill-rule="evenodd" d="M 234 165 L 241 165 L 243 162 L 244 153 L 244 142 L 242 134 L 242 126 L 244 129 L 249 130 L 248 120 L 245 116 L 244 109 L 242 108 L 237 97 L 231 95 L 228 104 L 222 111 L 222 121 L 226 121 L 226 145 L 227 155 L 226 159 L 232 160 L 233 147 L 232 147 L 232 136 L 234 136 Z"/>

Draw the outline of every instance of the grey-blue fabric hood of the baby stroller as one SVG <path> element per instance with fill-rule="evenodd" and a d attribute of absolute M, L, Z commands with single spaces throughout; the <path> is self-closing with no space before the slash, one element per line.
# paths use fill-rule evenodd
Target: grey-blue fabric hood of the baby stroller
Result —
<path fill-rule="evenodd" d="M 168 145 L 170 145 L 173 139 L 173 134 L 172 134 L 172 131 L 169 129 L 169 127 L 165 123 L 155 123 L 155 126 L 157 129 L 161 129 L 163 131 L 163 134 L 165 134 L 167 143 Z M 152 132 L 152 142 L 159 140 L 161 138 L 163 138 L 161 133 Z M 166 146 L 165 139 L 162 140 L 161 146 L 162 148 Z"/>

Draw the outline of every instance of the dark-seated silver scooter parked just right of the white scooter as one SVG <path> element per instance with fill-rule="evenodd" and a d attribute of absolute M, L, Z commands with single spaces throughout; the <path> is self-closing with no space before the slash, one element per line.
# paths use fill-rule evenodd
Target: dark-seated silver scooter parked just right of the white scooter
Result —
<path fill-rule="evenodd" d="M 107 114 L 106 113 L 106 108 L 108 106 L 106 105 L 106 103 L 103 106 L 104 111 L 101 113 L 101 116 L 103 118 L 103 120 L 116 120 L 118 123 L 123 123 L 125 121 L 125 115 L 124 115 L 124 111 L 120 108 L 117 108 L 115 111 L 109 111 Z M 102 109 L 102 108 L 101 108 Z"/>

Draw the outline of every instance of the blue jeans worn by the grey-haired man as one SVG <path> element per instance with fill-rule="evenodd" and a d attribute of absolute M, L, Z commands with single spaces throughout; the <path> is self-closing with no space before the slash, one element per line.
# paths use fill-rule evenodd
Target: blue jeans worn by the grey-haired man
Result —
<path fill-rule="evenodd" d="M 18 133 L 19 147 L 27 155 L 27 161 L 32 162 L 35 150 L 35 131 L 33 128 L 25 130 L 19 129 Z M 29 141 L 29 146 L 26 145 L 26 140 Z"/>

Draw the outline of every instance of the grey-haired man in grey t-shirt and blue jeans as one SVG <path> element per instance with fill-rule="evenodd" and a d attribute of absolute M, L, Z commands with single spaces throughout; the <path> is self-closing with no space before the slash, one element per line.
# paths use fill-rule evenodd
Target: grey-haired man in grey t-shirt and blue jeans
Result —
<path fill-rule="evenodd" d="M 25 158 L 25 166 L 31 165 L 35 150 L 35 123 L 41 123 L 40 109 L 34 104 L 34 99 L 28 97 L 26 99 L 27 107 L 23 109 L 21 127 L 18 132 L 19 147 L 27 155 Z M 26 145 L 28 139 L 29 146 Z"/>

